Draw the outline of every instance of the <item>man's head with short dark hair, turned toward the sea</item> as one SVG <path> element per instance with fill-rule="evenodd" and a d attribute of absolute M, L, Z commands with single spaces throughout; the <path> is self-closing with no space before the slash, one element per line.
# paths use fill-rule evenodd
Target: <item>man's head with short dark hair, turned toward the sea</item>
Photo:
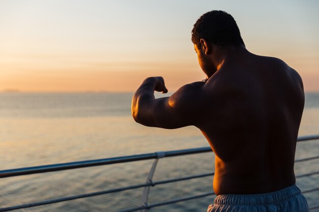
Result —
<path fill-rule="evenodd" d="M 227 49 L 245 47 L 234 18 L 224 11 L 210 11 L 194 24 L 192 41 L 203 72 L 210 77 L 223 63 Z"/>

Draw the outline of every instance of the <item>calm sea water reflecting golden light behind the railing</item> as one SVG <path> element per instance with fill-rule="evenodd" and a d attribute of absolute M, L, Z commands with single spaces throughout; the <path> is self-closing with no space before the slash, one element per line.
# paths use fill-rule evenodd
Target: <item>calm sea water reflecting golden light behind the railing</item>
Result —
<path fill-rule="evenodd" d="M 161 96 L 161 95 L 158 95 Z M 195 127 L 147 128 L 130 115 L 132 94 L 0 93 L 0 170 L 208 146 Z M 319 94 L 306 94 L 299 135 L 319 134 Z M 319 155 L 319 140 L 297 144 L 296 159 Z M 295 164 L 296 175 L 319 170 L 319 160 Z M 144 183 L 153 160 L 0 178 L 0 207 Z M 161 159 L 154 180 L 214 170 L 214 154 Z M 319 175 L 297 179 L 302 191 Z M 16 211 L 116 211 L 138 206 L 143 189 Z M 212 177 L 158 185 L 149 202 L 212 191 Z M 317 205 L 319 192 L 305 194 Z M 206 211 L 214 196 L 150 211 Z M 315 211 L 315 210 L 313 210 Z M 317 210 L 318 211 L 318 210 Z"/>

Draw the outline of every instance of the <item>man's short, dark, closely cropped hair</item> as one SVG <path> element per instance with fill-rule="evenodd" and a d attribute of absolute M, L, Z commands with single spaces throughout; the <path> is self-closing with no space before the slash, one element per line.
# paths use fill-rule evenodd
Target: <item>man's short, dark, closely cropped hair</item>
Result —
<path fill-rule="evenodd" d="M 207 12 L 196 21 L 192 30 L 192 42 L 201 46 L 201 38 L 220 47 L 245 46 L 235 19 L 220 10 Z"/>

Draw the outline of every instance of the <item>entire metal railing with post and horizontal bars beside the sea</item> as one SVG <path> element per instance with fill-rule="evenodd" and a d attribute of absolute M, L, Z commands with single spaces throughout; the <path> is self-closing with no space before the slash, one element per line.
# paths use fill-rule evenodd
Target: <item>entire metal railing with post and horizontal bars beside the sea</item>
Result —
<path fill-rule="evenodd" d="M 302 142 L 302 141 L 308 141 L 308 140 L 314 140 L 314 139 L 319 139 L 319 135 L 300 136 L 300 137 L 298 137 L 297 141 Z M 155 159 L 153 164 L 152 164 L 152 167 L 148 173 L 146 183 L 126 186 L 126 187 L 119 187 L 119 188 L 103 190 L 103 191 L 97 191 L 97 192 L 92 192 L 92 193 L 86 193 L 86 194 L 81 194 L 81 195 L 60 197 L 60 198 L 55 198 L 55 199 L 47 199 L 47 200 L 43 200 L 43 201 L 27 203 L 27 204 L 20 204 L 20 205 L 14 205 L 14 206 L 9 206 L 9 207 L 3 207 L 3 208 L 0 208 L 0 211 L 9 211 L 9 210 L 34 207 L 34 206 L 45 205 L 45 204 L 52 204 L 52 203 L 57 203 L 57 202 L 79 199 L 79 198 L 86 198 L 86 197 L 92 197 L 92 196 L 97 196 L 97 195 L 102 195 L 102 194 L 110 194 L 110 193 L 114 193 L 114 192 L 138 189 L 138 188 L 142 188 L 142 187 L 144 187 L 144 190 L 143 190 L 143 194 L 142 194 L 141 206 L 125 208 L 122 210 L 118 210 L 118 212 L 129 212 L 129 211 L 138 211 L 138 210 L 146 211 L 150 208 L 157 207 L 157 206 L 162 206 L 162 205 L 172 204 L 172 203 L 176 203 L 176 202 L 187 201 L 187 200 L 191 200 L 191 199 L 196 199 L 196 198 L 214 195 L 214 192 L 208 192 L 208 193 L 203 193 L 203 194 L 199 194 L 199 195 L 187 196 L 187 197 L 176 198 L 176 199 L 171 199 L 171 200 L 167 200 L 167 201 L 148 204 L 148 196 L 149 196 L 150 188 L 153 186 L 167 184 L 167 183 L 173 183 L 173 182 L 181 181 L 181 180 L 188 180 L 188 179 L 194 179 L 194 178 L 200 178 L 200 177 L 214 175 L 214 172 L 208 172 L 208 173 L 203 173 L 203 174 L 188 175 L 188 176 L 183 176 L 183 177 L 176 177 L 176 178 L 171 178 L 171 179 L 152 181 L 153 174 L 155 172 L 156 165 L 157 165 L 157 162 L 159 159 L 167 158 L 167 157 L 182 156 L 182 155 L 207 153 L 207 152 L 211 152 L 210 147 L 200 147 L 200 148 L 173 150 L 173 151 L 167 151 L 167 152 L 156 152 L 156 153 L 142 154 L 142 155 L 131 155 L 131 156 L 115 157 L 115 158 L 107 158 L 107 159 L 87 160 L 87 161 L 78 161 L 78 162 L 71 162 L 71 163 L 61 163 L 61 164 L 52 164 L 52 165 L 44 165 L 44 166 L 34 166 L 34 167 L 2 170 L 2 171 L 0 171 L 0 178 Z M 298 159 L 298 160 L 295 160 L 295 163 L 309 161 L 309 160 L 315 160 L 315 159 L 319 159 L 319 156 Z M 296 175 L 296 178 L 311 176 L 311 175 L 315 175 L 315 174 L 319 174 L 319 171 L 301 174 L 301 175 Z M 304 193 L 309 193 L 309 192 L 314 192 L 314 191 L 319 191 L 319 188 L 314 188 L 311 190 L 303 191 L 302 193 L 304 194 Z M 309 210 L 313 210 L 313 209 L 317 209 L 317 208 L 319 208 L 319 205 L 312 206 L 309 208 Z"/>

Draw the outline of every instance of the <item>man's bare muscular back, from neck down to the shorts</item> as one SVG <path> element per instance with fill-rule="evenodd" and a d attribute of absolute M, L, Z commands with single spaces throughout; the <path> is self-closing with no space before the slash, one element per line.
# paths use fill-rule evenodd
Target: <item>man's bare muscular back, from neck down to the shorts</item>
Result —
<path fill-rule="evenodd" d="M 273 57 L 241 54 L 203 85 L 197 127 L 216 154 L 216 194 L 267 193 L 295 184 L 304 106 L 298 73 Z"/>

